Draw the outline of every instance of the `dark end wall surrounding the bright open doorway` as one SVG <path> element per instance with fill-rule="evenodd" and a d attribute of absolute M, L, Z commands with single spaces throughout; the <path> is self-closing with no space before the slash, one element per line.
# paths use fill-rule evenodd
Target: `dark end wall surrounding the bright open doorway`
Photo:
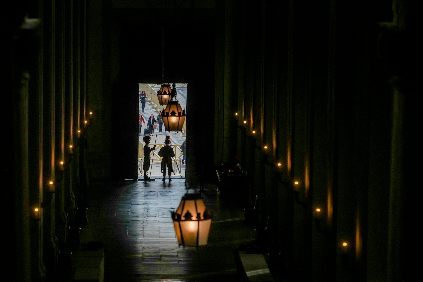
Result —
<path fill-rule="evenodd" d="M 128 133 L 137 126 L 137 85 L 162 83 L 162 63 L 165 82 L 188 83 L 187 153 L 191 164 L 187 170 L 198 175 L 203 165 L 213 166 L 212 153 L 207 150 L 213 148 L 214 140 L 211 130 L 214 124 L 213 25 L 214 22 L 209 22 L 195 27 L 174 25 L 162 29 L 157 25 L 122 24 L 119 74 L 112 93 L 113 128 L 119 132 L 112 137 L 113 178 L 137 175 L 138 145 L 132 142 L 133 134 Z M 112 52 L 111 56 L 117 54 Z"/>

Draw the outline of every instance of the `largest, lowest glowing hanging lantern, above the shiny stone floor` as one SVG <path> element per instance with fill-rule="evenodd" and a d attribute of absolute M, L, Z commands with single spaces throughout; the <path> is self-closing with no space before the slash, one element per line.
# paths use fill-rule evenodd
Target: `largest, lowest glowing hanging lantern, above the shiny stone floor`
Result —
<path fill-rule="evenodd" d="M 211 218 L 200 194 L 185 194 L 172 219 L 180 246 L 207 245 Z"/>

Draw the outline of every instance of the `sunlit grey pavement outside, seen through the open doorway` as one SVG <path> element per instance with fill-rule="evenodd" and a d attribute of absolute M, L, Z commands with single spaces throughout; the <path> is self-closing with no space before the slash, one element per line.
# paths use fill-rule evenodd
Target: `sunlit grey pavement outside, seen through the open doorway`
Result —
<path fill-rule="evenodd" d="M 159 90 L 160 87 L 154 87 L 153 89 L 157 92 L 157 90 Z M 144 89 L 140 89 L 140 90 L 144 90 Z M 176 99 L 179 101 L 179 104 L 181 105 L 182 109 L 186 110 L 187 109 L 187 88 L 176 88 L 176 91 L 177 91 Z M 153 104 L 151 103 L 151 101 L 147 99 L 146 107 L 144 107 L 144 112 L 141 107 L 139 108 L 140 114 L 142 114 L 144 119 L 146 120 L 146 124 L 143 123 L 141 127 L 141 135 L 138 137 L 142 145 L 144 145 L 143 137 L 145 136 L 144 129 L 147 128 L 147 119 L 150 117 L 151 114 L 154 115 L 154 118 L 157 118 L 157 115 L 159 115 L 159 110 L 163 110 L 165 109 L 165 107 L 166 106 L 162 106 L 162 108 L 156 109 L 153 107 Z M 186 136 L 184 136 L 184 134 L 180 131 L 166 132 L 165 126 L 163 126 L 162 132 L 158 132 L 159 131 L 158 127 L 159 126 L 157 125 L 157 129 L 154 129 L 153 136 L 151 136 L 150 147 L 153 146 L 154 144 L 165 144 L 166 135 L 170 136 L 170 140 L 172 141 L 173 145 L 179 145 L 179 146 L 182 145 L 182 143 L 184 142 L 186 138 Z M 140 170 L 142 173 L 140 172 Z M 140 168 L 140 170 L 138 170 L 138 178 L 140 178 L 141 175 L 143 175 L 144 173 L 142 167 Z M 179 171 L 173 172 L 172 177 L 185 178 L 185 164 L 181 164 L 180 170 L 181 170 L 180 174 L 179 174 Z M 148 175 L 150 176 L 150 172 L 148 172 Z M 151 167 L 151 178 L 156 178 L 156 177 L 162 179 L 163 174 L 161 172 L 160 162 L 154 161 L 153 159 L 153 165 Z"/>

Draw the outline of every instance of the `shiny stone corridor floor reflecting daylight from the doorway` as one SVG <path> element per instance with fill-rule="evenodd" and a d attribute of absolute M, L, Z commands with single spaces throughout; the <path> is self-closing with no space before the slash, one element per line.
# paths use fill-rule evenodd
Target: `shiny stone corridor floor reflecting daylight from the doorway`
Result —
<path fill-rule="evenodd" d="M 183 178 L 90 183 L 81 243 L 104 244 L 104 281 L 239 281 L 233 251 L 255 237 L 244 224 L 243 205 L 219 199 L 216 186 L 205 185 L 212 211 L 209 244 L 183 248 L 170 212 L 186 192 Z"/>

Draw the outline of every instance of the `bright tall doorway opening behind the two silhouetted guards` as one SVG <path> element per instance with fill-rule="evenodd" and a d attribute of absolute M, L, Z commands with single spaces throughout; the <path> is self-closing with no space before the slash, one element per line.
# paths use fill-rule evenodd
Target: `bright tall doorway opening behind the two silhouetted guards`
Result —
<path fill-rule="evenodd" d="M 172 85 L 172 83 L 168 83 Z M 179 101 L 182 109 L 187 109 L 187 83 L 175 83 L 176 85 L 176 99 Z M 185 178 L 185 158 L 183 153 L 183 143 L 187 138 L 186 124 L 184 124 L 182 131 L 166 131 L 163 123 L 158 120 L 159 114 L 166 108 L 166 105 L 160 105 L 157 98 L 157 91 L 160 89 L 161 84 L 156 83 L 139 83 L 139 115 L 141 119 L 141 125 L 138 126 L 138 179 L 142 179 L 144 176 L 144 153 L 143 148 L 145 142 L 143 137 L 149 136 L 150 144 L 148 147 L 153 148 L 156 146 L 154 151 L 150 153 L 149 170 L 147 172 L 150 178 L 163 178 L 161 171 L 161 157 L 158 155 L 160 148 L 165 145 L 166 136 L 170 136 L 172 143 L 171 147 L 175 153 L 175 157 L 172 158 L 172 178 Z M 151 116 L 152 115 L 152 116 Z M 150 118 L 154 118 L 155 122 L 151 126 L 147 126 L 151 123 Z M 160 120 L 162 121 L 162 120 Z M 185 123 L 187 120 L 185 119 Z M 155 127 L 155 128 L 154 128 Z"/>

